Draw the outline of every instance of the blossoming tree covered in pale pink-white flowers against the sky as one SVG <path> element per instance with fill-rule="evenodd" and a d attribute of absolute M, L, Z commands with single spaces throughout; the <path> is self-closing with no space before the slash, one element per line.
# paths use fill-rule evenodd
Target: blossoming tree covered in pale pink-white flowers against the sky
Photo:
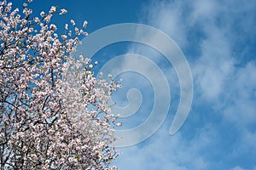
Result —
<path fill-rule="evenodd" d="M 29 3 L 32 0 L 28 1 Z M 116 169 L 110 146 L 116 116 L 108 99 L 119 83 L 96 79 L 90 59 L 73 59 L 79 30 L 59 36 L 52 7 L 40 17 L 0 2 L 1 169 Z"/>

